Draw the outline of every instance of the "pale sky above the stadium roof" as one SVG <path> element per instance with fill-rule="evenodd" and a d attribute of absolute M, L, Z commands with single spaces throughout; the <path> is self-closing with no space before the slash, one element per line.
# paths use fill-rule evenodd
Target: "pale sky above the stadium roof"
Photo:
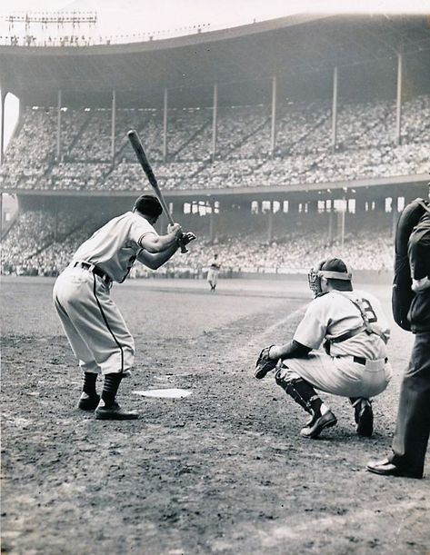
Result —
<path fill-rule="evenodd" d="M 310 11 L 430 13 L 430 0 L 14 0 L 0 13 L 10 14 L 11 8 L 96 11 L 98 32 L 115 35 L 198 24 L 218 28 Z"/>

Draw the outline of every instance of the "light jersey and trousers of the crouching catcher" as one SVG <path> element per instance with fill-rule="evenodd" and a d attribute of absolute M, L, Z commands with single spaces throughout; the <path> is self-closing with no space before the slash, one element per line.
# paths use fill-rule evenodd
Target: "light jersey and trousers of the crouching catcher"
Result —
<path fill-rule="evenodd" d="M 389 333 L 375 296 L 362 291 L 324 293 L 308 305 L 294 339 L 313 350 L 324 343 L 325 352 L 285 359 L 280 375 L 286 381 L 302 378 L 335 395 L 373 397 L 384 391 L 391 379 L 382 339 Z"/>

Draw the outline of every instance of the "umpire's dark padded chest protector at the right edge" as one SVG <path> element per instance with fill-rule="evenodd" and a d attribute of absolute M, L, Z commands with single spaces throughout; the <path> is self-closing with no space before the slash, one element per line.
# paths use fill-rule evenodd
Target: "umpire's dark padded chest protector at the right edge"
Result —
<path fill-rule="evenodd" d="M 409 237 L 425 211 L 430 210 L 423 199 L 415 199 L 400 214 L 395 231 L 395 277 L 393 282 L 392 307 L 395 322 L 410 332 L 407 313 L 414 298 L 412 277 L 407 254 Z"/>

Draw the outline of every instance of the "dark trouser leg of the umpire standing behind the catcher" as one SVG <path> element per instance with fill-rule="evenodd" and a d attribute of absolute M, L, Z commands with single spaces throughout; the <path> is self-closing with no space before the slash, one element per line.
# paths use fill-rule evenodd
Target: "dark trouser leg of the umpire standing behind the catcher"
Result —
<path fill-rule="evenodd" d="M 400 389 L 390 457 L 399 468 L 422 474 L 430 433 L 430 332 L 416 333 L 411 360 Z"/>

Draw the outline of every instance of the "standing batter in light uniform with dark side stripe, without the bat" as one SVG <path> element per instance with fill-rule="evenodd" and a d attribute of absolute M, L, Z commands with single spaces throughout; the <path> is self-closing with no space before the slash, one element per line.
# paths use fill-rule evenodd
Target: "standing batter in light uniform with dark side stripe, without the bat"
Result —
<path fill-rule="evenodd" d="M 138 418 L 115 401 L 122 378 L 133 367 L 135 342 L 110 298 L 113 282 L 124 282 L 136 260 L 156 270 L 175 254 L 179 238 L 185 244 L 195 239 L 178 223 L 158 235 L 154 225 L 161 213 L 155 196 L 140 196 L 133 211 L 115 217 L 85 241 L 55 281 L 55 309 L 84 372 L 78 407 L 95 411 L 98 420 Z M 105 377 L 101 397 L 95 388 L 98 374 Z"/>

